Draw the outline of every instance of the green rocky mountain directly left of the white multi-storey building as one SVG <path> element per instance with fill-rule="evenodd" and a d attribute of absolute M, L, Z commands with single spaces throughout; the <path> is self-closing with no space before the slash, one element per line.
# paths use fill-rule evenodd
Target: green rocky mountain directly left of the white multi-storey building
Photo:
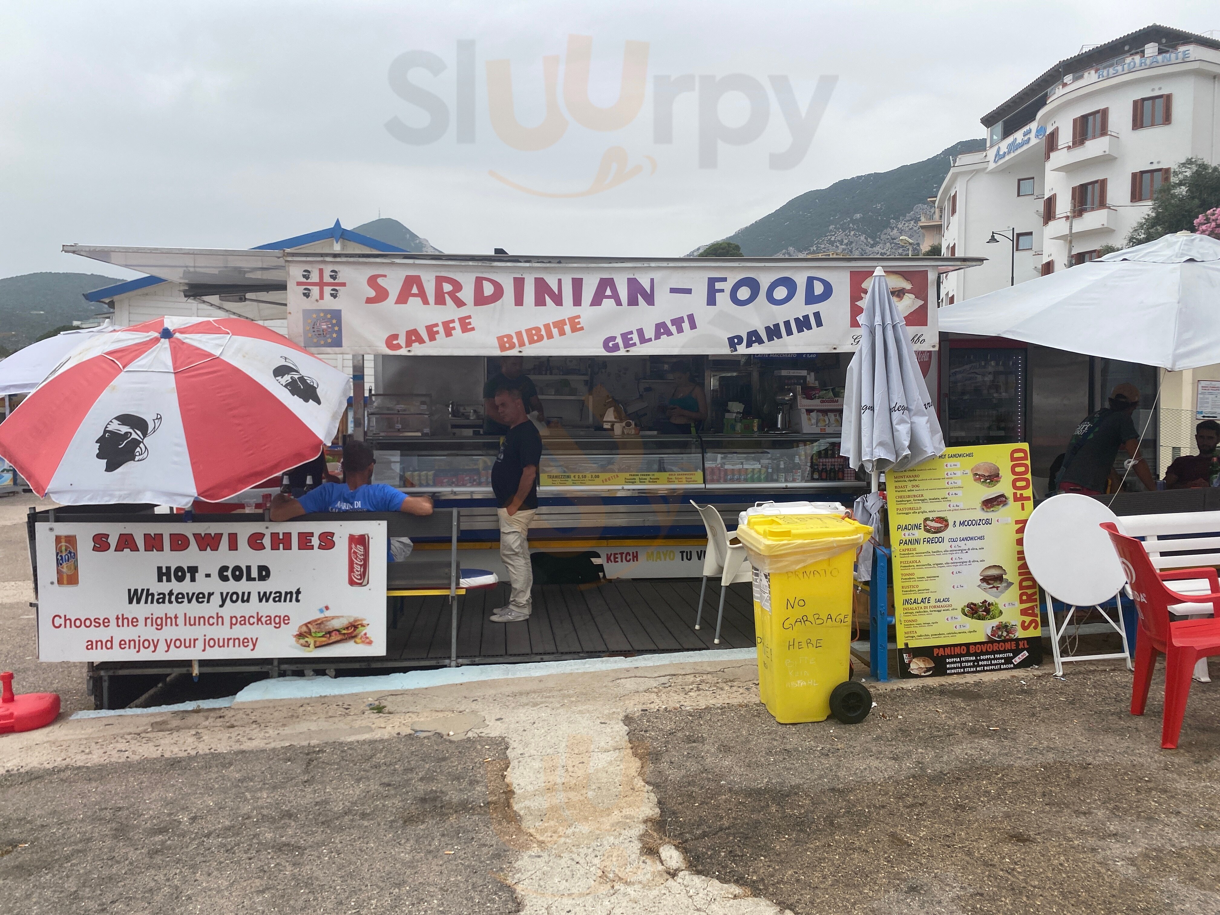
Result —
<path fill-rule="evenodd" d="M 919 221 L 932 212 L 927 199 L 941 189 L 949 157 L 983 145 L 982 139 L 961 140 L 921 162 L 858 174 L 806 192 L 725 240 L 737 242 L 744 255 L 762 257 L 800 257 L 824 251 L 905 254 L 898 237 L 921 239 Z"/>

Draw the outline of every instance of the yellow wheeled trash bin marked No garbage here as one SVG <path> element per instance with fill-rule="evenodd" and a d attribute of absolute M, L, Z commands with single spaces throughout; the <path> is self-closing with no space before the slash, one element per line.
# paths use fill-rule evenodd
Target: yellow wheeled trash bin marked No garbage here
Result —
<path fill-rule="evenodd" d="M 754 515 L 737 528 L 754 566 L 759 698 L 781 723 L 856 723 L 872 708 L 848 672 L 852 570 L 871 533 L 836 515 Z"/>

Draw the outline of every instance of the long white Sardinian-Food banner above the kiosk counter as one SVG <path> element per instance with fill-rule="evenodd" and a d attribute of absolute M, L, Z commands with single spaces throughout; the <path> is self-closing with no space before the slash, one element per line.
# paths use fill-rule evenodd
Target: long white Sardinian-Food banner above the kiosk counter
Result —
<path fill-rule="evenodd" d="M 781 355 L 854 350 L 872 267 L 285 257 L 288 336 L 375 355 Z M 886 273 L 911 345 L 937 346 L 936 267 Z"/>

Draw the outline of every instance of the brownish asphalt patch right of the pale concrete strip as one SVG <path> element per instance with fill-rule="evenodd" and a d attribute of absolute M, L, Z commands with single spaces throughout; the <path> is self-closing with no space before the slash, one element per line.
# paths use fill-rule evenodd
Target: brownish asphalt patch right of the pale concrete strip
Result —
<path fill-rule="evenodd" d="M 1022 682 L 1024 681 L 1024 682 Z M 808 913 L 1220 911 L 1220 682 L 1160 749 L 1131 675 L 878 692 L 861 725 L 761 705 L 644 711 L 656 832 L 692 870 Z"/>

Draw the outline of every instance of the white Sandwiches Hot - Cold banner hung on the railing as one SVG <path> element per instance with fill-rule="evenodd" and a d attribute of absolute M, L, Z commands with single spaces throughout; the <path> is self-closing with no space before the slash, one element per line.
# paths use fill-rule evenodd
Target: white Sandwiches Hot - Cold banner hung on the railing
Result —
<path fill-rule="evenodd" d="M 384 521 L 56 522 L 34 544 L 40 661 L 386 654 Z"/>

